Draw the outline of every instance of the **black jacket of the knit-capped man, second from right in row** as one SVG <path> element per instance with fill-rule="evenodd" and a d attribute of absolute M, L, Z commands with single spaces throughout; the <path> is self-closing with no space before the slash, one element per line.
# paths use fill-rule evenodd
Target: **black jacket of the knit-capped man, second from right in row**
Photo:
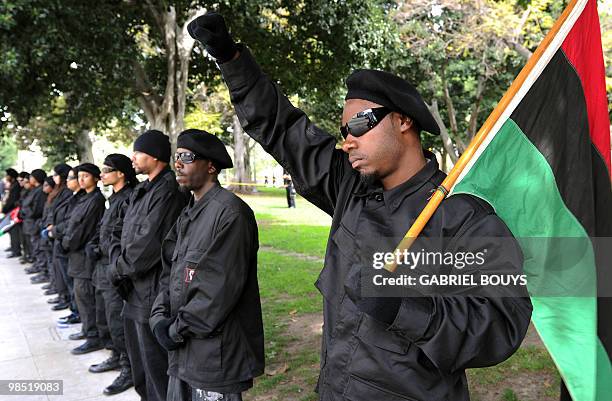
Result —
<path fill-rule="evenodd" d="M 186 203 L 170 167 L 132 191 L 121 231 L 121 253 L 111 265 L 113 281 L 130 279 L 134 285 L 123 308 L 126 318 L 149 321 L 159 292 L 161 243 Z"/>

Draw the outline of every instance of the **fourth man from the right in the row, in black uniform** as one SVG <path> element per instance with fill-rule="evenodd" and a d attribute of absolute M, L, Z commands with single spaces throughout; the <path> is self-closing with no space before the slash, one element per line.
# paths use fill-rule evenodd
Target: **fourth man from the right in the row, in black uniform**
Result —
<path fill-rule="evenodd" d="M 74 280 L 74 299 L 83 323 L 80 336 L 86 341 L 70 351 L 74 355 L 85 354 L 104 348 L 108 333 L 96 325 L 96 304 L 91 277 L 93 265 L 87 256 L 85 245 L 96 232 L 96 227 L 104 213 L 106 199 L 100 188 L 100 169 L 92 163 L 77 167 L 79 187 L 85 193 L 79 198 L 70 212 L 70 219 L 62 237 L 61 247 L 68 254 L 68 275 Z"/>

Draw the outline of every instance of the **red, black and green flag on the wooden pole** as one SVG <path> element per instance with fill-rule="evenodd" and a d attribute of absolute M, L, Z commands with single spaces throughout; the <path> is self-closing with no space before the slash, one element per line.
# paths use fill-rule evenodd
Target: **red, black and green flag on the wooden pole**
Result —
<path fill-rule="evenodd" d="M 612 260 L 597 245 L 612 238 L 610 121 L 596 1 L 572 1 L 545 41 L 451 194 L 486 199 L 521 243 L 532 320 L 571 398 L 612 400 Z M 562 238 L 589 245 L 567 254 Z"/>

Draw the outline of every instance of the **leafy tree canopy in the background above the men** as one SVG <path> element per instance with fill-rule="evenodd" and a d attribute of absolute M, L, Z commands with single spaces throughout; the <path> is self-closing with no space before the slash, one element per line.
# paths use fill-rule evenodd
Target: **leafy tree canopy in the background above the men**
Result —
<path fill-rule="evenodd" d="M 92 132 L 129 143 L 149 127 L 175 141 L 187 126 L 205 127 L 234 148 L 237 175 L 248 176 L 252 143 L 213 60 L 186 34 L 191 19 L 215 9 L 292 101 L 336 136 L 354 68 L 414 83 L 443 130 L 425 135 L 424 146 L 454 162 L 565 3 L 5 0 L 0 129 L 20 148 L 36 142 L 53 160 L 83 161 Z M 606 61 L 611 12 L 600 3 Z M 609 63 L 606 71 L 612 76 Z"/>

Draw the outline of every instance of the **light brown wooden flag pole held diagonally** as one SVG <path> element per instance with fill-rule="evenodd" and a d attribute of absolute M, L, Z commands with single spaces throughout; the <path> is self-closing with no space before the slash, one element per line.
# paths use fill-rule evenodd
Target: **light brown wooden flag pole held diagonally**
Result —
<path fill-rule="evenodd" d="M 421 231 L 423 231 L 423 228 L 425 227 L 431 216 L 434 214 L 438 206 L 440 206 L 442 200 L 444 200 L 446 195 L 448 195 L 448 193 L 450 192 L 450 189 L 453 187 L 453 185 L 455 185 L 455 182 L 459 178 L 459 175 L 461 175 L 461 172 L 465 169 L 465 166 L 467 166 L 470 160 L 472 160 L 472 157 L 474 157 L 474 154 L 476 153 L 480 145 L 482 145 L 484 140 L 487 138 L 487 136 L 491 132 L 491 129 L 499 120 L 499 117 L 502 115 L 504 110 L 506 110 L 506 107 L 508 107 L 510 101 L 512 101 L 519 88 L 525 82 L 525 79 L 527 79 L 537 62 L 540 60 L 542 54 L 544 54 L 544 51 L 546 51 L 546 49 L 550 45 L 550 42 L 552 42 L 553 38 L 557 35 L 557 33 L 559 33 L 559 29 L 567 20 L 578 1 L 579 0 L 572 0 L 570 4 L 568 4 L 568 6 L 565 8 L 565 10 L 563 10 L 561 16 L 557 19 L 557 21 L 555 21 L 552 28 L 550 28 L 550 31 L 548 32 L 548 34 L 546 34 L 546 36 L 542 40 L 542 43 L 540 43 L 533 55 L 529 58 L 529 60 L 527 60 L 527 64 L 525 64 L 525 66 L 518 74 L 514 82 L 512 82 L 512 85 L 510 85 L 510 88 L 508 88 L 508 90 L 501 98 L 495 109 L 491 112 L 489 117 L 487 117 L 487 120 L 482 125 L 482 127 L 480 127 L 478 133 L 474 136 L 465 152 L 463 152 L 459 160 L 457 160 L 457 163 L 453 166 L 450 173 L 448 173 L 448 176 L 446 176 L 442 184 L 436 189 L 423 211 L 421 211 L 417 219 L 414 221 L 414 223 L 412 223 L 412 226 L 410 227 L 406 235 L 404 235 L 404 238 L 402 238 L 396 250 L 403 252 L 404 250 L 410 249 Z M 397 263 L 394 261 L 392 263 L 386 264 L 385 269 L 390 272 L 394 272 L 395 269 L 397 269 Z"/>

